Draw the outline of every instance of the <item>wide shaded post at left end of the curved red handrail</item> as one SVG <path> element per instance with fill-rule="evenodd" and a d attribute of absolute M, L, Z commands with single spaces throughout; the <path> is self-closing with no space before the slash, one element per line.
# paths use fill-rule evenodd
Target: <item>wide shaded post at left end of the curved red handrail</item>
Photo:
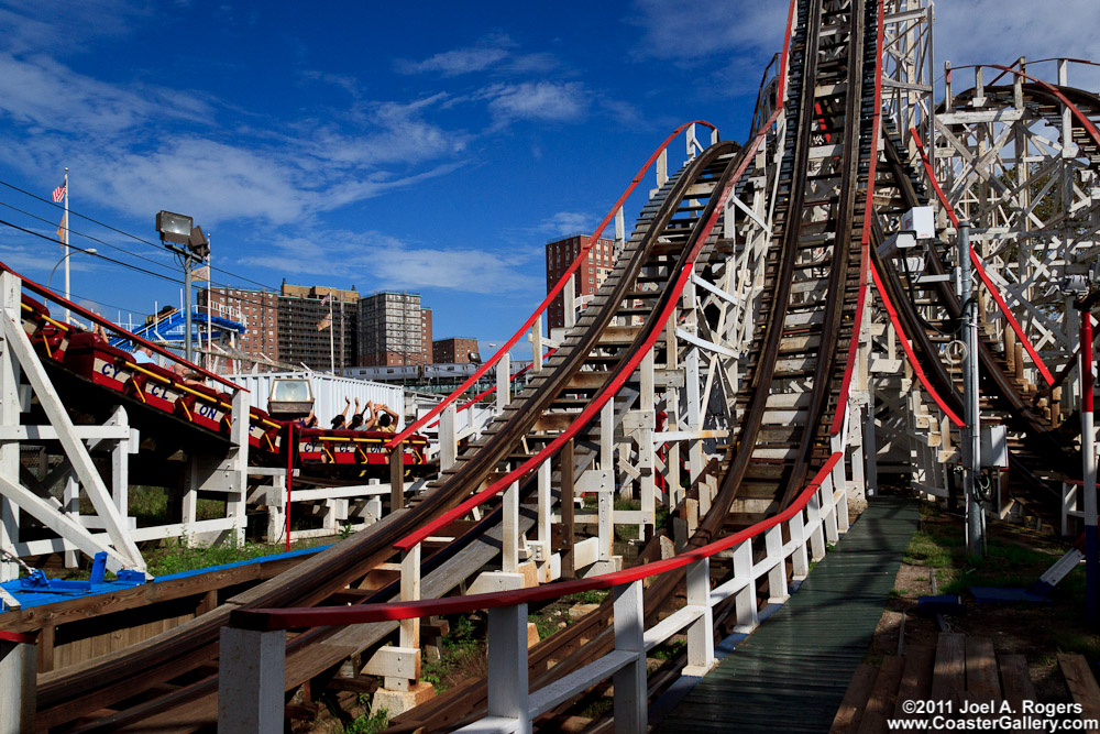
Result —
<path fill-rule="evenodd" d="M 283 731 L 286 633 L 221 628 L 218 734 Z"/>

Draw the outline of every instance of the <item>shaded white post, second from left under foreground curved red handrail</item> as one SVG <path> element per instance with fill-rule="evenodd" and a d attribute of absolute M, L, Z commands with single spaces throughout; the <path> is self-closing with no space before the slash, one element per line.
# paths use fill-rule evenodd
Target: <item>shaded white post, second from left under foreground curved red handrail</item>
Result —
<path fill-rule="evenodd" d="M 530 732 L 527 690 L 527 604 L 488 611 L 488 715 Z"/>

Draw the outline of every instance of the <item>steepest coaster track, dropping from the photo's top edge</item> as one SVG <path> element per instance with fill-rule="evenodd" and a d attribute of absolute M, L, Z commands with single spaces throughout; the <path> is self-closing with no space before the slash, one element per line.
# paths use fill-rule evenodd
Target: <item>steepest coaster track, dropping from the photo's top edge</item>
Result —
<path fill-rule="evenodd" d="M 776 217 L 781 226 L 769 250 L 769 295 L 757 320 L 762 329 L 750 352 L 750 373 L 736 396 L 739 434 L 716 469 L 721 490 L 690 547 L 774 514 L 828 456 L 829 412 L 843 403 L 859 296 L 860 242 L 851 232 L 862 228 L 873 147 L 873 106 L 861 102 L 875 96 L 875 65 L 864 62 L 875 58 L 876 25 L 876 3 L 813 2 L 800 9 L 779 182 L 784 196 Z M 868 26 L 871 33 L 865 33 Z M 822 37 L 828 41 L 822 43 Z M 803 89 L 813 94 L 803 95 Z M 659 557 L 656 546 L 654 540 L 642 557 Z M 729 568 L 714 570 L 721 577 Z M 670 609 L 682 584 L 678 573 L 654 580 L 645 596 L 647 624 Z M 610 650 L 610 613 L 608 601 L 532 648 L 532 689 Z M 652 677 L 650 694 L 676 677 L 682 665 L 672 660 L 664 675 Z M 484 715 L 486 697 L 485 681 L 451 689 L 399 717 L 398 731 L 461 726 Z"/>

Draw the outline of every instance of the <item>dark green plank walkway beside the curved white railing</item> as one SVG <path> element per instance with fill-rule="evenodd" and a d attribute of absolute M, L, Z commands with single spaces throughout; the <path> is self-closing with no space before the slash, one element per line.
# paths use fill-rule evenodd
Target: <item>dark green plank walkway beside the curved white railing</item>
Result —
<path fill-rule="evenodd" d="M 657 731 L 829 731 L 917 519 L 911 501 L 873 499 L 799 591 L 702 678 Z"/>

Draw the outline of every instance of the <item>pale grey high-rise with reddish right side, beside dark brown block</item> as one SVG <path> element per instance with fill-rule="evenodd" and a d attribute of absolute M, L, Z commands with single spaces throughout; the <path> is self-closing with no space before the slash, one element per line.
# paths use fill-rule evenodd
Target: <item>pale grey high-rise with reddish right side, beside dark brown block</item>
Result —
<path fill-rule="evenodd" d="M 416 293 L 376 293 L 359 302 L 360 366 L 430 364 L 431 310 Z"/>

